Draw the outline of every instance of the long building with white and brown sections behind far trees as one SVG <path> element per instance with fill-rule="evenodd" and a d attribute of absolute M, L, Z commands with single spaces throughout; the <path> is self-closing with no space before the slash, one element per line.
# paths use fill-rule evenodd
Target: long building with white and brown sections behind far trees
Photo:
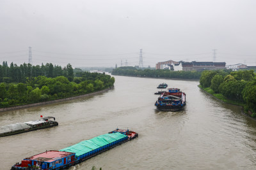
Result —
<path fill-rule="evenodd" d="M 158 62 L 156 69 L 170 69 L 172 71 L 204 71 L 215 69 L 226 69 L 226 62 L 184 62 L 168 60 Z"/>

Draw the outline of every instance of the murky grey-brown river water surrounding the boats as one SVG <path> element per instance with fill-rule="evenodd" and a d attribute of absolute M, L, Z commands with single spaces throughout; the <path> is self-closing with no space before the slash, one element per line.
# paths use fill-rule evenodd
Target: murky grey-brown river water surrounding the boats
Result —
<path fill-rule="evenodd" d="M 56 117 L 57 127 L 0 138 L 0 169 L 118 127 L 139 138 L 70 169 L 255 169 L 256 121 L 205 94 L 198 81 L 115 76 L 98 96 L 0 113 L 0 125 Z M 186 93 L 183 111 L 157 111 L 159 83 Z"/>

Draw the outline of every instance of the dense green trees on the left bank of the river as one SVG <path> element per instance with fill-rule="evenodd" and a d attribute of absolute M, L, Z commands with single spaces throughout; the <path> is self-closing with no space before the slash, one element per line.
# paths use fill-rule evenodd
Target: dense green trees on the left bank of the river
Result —
<path fill-rule="evenodd" d="M 28 66 L 29 64 L 22 64 L 22 66 L 24 65 Z M 13 66 L 15 67 L 15 64 Z M 33 66 L 30 67 L 33 68 Z M 25 80 L 20 78 L 20 81 L 13 79 L 12 72 L 8 72 L 9 77 L 4 76 L 5 79 L 2 79 L 0 83 L 0 108 L 79 96 L 112 87 L 115 83 L 115 78 L 105 73 L 77 71 L 80 76 L 76 77 L 70 64 L 66 67 L 67 71 L 64 69 L 58 73 L 66 73 L 56 77 L 51 77 L 56 75 L 54 71 L 48 70 L 46 76 L 35 76 L 31 73 L 32 71 L 28 71 L 25 73 Z M 68 69 L 70 69 L 69 72 Z M 28 74 L 30 76 L 27 76 Z M 12 82 L 3 81 L 6 78 L 10 78 L 9 81 Z"/>

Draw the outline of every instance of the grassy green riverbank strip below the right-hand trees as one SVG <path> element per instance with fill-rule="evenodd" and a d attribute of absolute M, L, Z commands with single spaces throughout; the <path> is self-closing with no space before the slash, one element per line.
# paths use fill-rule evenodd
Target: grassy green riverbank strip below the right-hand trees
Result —
<path fill-rule="evenodd" d="M 214 93 L 213 90 L 212 90 L 211 88 L 209 88 L 209 87 L 203 88 L 201 85 L 198 85 L 198 87 L 199 87 L 200 89 L 202 89 L 205 93 L 211 95 L 212 97 L 214 97 L 215 99 L 217 99 L 218 101 L 220 101 L 220 102 L 222 102 L 222 103 L 232 104 L 232 105 L 234 105 L 234 106 L 240 106 L 240 107 L 241 107 L 241 113 L 242 113 L 243 115 L 245 115 L 246 117 L 250 117 L 250 118 L 256 120 L 256 118 L 253 118 L 253 117 L 252 117 L 252 113 L 250 114 L 250 113 L 245 113 L 245 112 L 244 112 L 244 106 L 245 106 L 244 103 L 239 103 L 239 102 L 237 102 L 237 101 L 232 101 L 232 100 L 230 100 L 230 99 L 227 99 L 227 98 L 224 97 L 222 94 L 216 94 L 216 93 Z"/>

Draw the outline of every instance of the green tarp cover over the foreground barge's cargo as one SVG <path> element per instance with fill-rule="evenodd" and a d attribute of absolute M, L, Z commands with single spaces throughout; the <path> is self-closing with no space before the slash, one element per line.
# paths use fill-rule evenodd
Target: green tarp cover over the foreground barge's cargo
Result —
<path fill-rule="evenodd" d="M 108 145 L 109 143 L 112 143 L 114 141 L 117 141 L 125 137 L 127 136 L 119 132 L 116 132 L 113 134 L 102 134 L 90 140 L 81 141 L 76 145 L 69 146 L 60 151 L 73 152 L 73 153 L 76 153 L 76 157 L 79 157 L 84 153 L 100 148 L 101 146 Z"/>

